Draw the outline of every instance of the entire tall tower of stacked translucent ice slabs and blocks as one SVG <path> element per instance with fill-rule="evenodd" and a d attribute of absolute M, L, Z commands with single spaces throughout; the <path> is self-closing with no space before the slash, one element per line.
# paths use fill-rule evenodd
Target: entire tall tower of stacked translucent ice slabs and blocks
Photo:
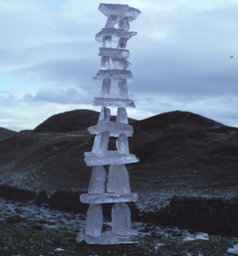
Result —
<path fill-rule="evenodd" d="M 126 107 L 135 107 L 128 98 L 127 84 L 132 82 L 132 74 L 127 68 L 129 51 L 127 41 L 136 32 L 129 31 L 129 22 L 135 20 L 140 11 L 122 4 L 100 4 L 99 11 L 108 17 L 105 28 L 96 34 L 95 40 L 102 43 L 99 48 L 101 70 L 92 81 L 102 81 L 101 97 L 94 98 L 93 105 L 101 107 L 99 122 L 89 127 L 96 134 L 91 152 L 85 152 L 85 162 L 92 166 L 88 194 L 82 194 L 80 201 L 89 204 L 85 234 L 79 234 L 77 241 L 84 239 L 88 244 L 133 243 L 130 236 L 130 209 L 126 202 L 135 202 L 136 193 L 130 193 L 129 174 L 124 164 L 138 162 L 129 153 L 128 137 L 133 128 L 128 124 Z M 118 28 L 116 25 L 118 24 Z M 116 48 L 112 48 L 115 44 Z M 110 69 L 110 66 L 113 69 Z M 110 98 L 111 83 L 117 83 L 119 97 Z M 117 107 L 116 122 L 110 121 L 109 107 Z M 117 137 L 115 151 L 108 150 L 109 137 Z M 109 165 L 108 175 L 103 165 Z M 106 190 L 105 190 L 105 183 Z M 101 233 L 103 213 L 101 204 L 114 203 L 112 206 L 112 233 Z"/>

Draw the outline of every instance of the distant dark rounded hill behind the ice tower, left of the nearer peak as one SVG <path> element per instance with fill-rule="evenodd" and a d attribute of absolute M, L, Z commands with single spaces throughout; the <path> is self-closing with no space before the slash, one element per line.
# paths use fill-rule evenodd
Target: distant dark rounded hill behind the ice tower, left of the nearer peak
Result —
<path fill-rule="evenodd" d="M 99 112 L 93 110 L 73 110 L 60 113 L 49 117 L 46 121 L 38 125 L 33 132 L 35 133 L 64 133 L 87 130 L 89 126 L 96 125 L 99 120 Z M 115 116 L 111 117 L 114 121 Z M 129 123 L 137 121 L 129 118 Z"/>

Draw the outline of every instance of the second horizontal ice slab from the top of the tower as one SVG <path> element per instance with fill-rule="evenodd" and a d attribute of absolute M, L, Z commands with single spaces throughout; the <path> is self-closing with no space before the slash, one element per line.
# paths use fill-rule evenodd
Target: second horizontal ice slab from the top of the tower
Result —
<path fill-rule="evenodd" d="M 115 29 L 115 28 L 104 28 L 95 35 L 95 40 L 101 43 L 104 36 L 111 36 L 111 41 L 118 42 L 121 37 L 130 39 L 136 34 L 137 32 L 134 32 L 134 31 L 125 31 L 125 30 Z"/>

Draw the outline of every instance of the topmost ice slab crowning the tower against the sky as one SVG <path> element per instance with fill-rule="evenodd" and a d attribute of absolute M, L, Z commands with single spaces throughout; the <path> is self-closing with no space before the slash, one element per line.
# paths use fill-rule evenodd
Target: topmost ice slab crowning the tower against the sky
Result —
<path fill-rule="evenodd" d="M 111 3 L 100 3 L 99 11 L 105 16 L 110 17 L 111 14 L 117 16 L 117 21 L 128 17 L 129 21 L 135 20 L 140 15 L 140 10 L 133 7 L 129 7 L 127 4 L 111 4 Z"/>

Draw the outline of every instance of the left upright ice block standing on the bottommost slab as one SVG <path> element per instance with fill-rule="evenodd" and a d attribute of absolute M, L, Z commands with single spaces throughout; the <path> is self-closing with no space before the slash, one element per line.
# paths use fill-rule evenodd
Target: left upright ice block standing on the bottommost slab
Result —
<path fill-rule="evenodd" d="M 100 236 L 102 231 L 102 206 L 100 204 L 90 204 L 87 213 L 85 233 L 90 236 Z"/>

